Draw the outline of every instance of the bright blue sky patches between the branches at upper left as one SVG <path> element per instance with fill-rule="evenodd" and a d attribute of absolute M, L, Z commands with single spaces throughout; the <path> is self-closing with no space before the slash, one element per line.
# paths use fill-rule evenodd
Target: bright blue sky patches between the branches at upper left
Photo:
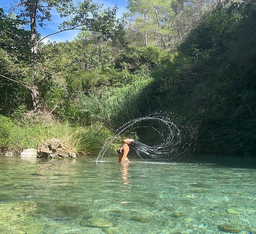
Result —
<path fill-rule="evenodd" d="M 4 10 L 8 10 L 10 7 L 10 4 L 13 2 L 13 0 L 0 0 L 0 7 L 3 8 Z M 74 1 L 75 2 L 75 1 Z M 127 2 L 126 0 L 93 0 L 93 2 L 98 2 L 100 4 L 103 4 L 103 8 L 107 7 L 114 7 L 115 5 L 118 6 L 118 12 L 117 12 L 117 17 L 121 17 L 122 13 L 126 11 L 126 5 Z M 59 14 L 57 12 L 52 11 L 52 22 L 47 22 L 45 26 L 45 29 L 42 29 L 38 27 L 38 31 L 42 36 L 51 34 L 55 31 L 58 31 L 58 26 L 62 22 L 63 19 L 59 17 Z M 65 31 L 62 33 L 58 33 L 52 36 L 49 36 L 48 39 L 51 41 L 71 41 L 74 39 L 74 37 L 78 34 L 79 30 L 71 30 L 71 31 Z"/>

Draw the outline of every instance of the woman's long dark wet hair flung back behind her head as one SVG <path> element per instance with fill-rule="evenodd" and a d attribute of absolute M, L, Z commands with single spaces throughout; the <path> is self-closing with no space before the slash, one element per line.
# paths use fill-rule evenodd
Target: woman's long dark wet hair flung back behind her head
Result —
<path fill-rule="evenodd" d="M 133 140 L 128 146 L 140 159 L 167 159 L 170 156 L 170 151 L 165 147 L 149 146 L 138 140 Z"/>

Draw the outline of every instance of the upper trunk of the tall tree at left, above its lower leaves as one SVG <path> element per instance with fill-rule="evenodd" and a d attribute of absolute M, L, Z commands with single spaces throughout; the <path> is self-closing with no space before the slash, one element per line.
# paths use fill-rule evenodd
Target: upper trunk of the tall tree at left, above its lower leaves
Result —
<path fill-rule="evenodd" d="M 30 64 L 32 67 L 35 67 L 37 63 L 37 0 L 28 0 L 26 2 L 26 7 L 30 12 Z"/>

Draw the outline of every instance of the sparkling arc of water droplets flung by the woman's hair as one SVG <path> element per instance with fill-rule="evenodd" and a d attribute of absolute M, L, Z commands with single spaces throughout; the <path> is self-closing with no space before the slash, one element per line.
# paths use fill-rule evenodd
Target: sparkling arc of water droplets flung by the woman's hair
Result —
<path fill-rule="evenodd" d="M 96 162 L 100 162 L 106 153 L 106 150 L 108 147 L 111 145 L 111 143 L 116 140 L 118 135 L 121 133 L 127 133 L 128 131 L 131 131 L 136 128 L 147 128 L 148 126 L 138 126 L 138 127 L 133 127 L 130 128 L 131 126 L 138 124 L 142 121 L 148 121 L 148 120 L 153 120 L 157 121 L 160 123 L 160 126 L 162 127 L 161 132 L 157 130 L 156 128 L 153 128 L 158 134 L 160 135 L 160 139 L 155 142 L 157 143 L 156 145 L 149 146 L 145 145 L 141 142 L 138 145 L 138 148 L 140 148 L 139 152 L 136 153 L 138 154 L 139 157 L 143 159 L 148 159 L 148 158 L 153 158 L 153 159 L 170 159 L 170 158 L 176 158 L 180 156 L 180 154 L 183 153 L 185 150 L 185 145 L 181 146 L 181 130 L 173 123 L 173 121 L 170 119 L 170 114 L 162 112 L 162 113 L 155 113 L 151 114 L 149 116 L 145 116 L 142 118 L 137 118 L 132 121 L 129 121 L 128 123 L 125 123 L 122 125 L 118 130 L 116 130 L 116 135 L 112 138 L 108 138 L 106 142 L 103 145 L 103 148 L 101 152 L 98 154 L 98 158 Z M 165 128 L 162 126 L 162 123 L 165 124 Z M 166 134 L 166 136 L 164 136 Z M 162 140 L 162 142 L 161 142 Z"/>

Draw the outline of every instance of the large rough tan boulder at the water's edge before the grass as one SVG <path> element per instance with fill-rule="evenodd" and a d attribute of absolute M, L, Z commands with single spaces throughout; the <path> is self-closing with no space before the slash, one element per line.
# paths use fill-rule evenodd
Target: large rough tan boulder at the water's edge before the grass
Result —
<path fill-rule="evenodd" d="M 51 138 L 39 146 L 37 151 L 38 158 L 75 158 L 76 153 L 59 139 Z"/>

